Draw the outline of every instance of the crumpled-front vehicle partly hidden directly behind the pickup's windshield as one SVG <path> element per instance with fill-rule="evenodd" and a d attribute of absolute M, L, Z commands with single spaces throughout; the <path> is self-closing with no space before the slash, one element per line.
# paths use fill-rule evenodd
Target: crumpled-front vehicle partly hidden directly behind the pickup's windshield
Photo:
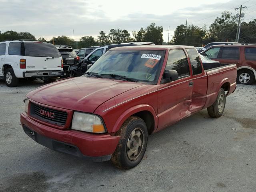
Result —
<path fill-rule="evenodd" d="M 129 43 L 114 43 L 103 45 L 96 48 L 88 56 L 86 56 L 81 62 L 70 66 L 68 68 L 68 74 L 72 77 L 81 76 L 87 71 L 87 66 L 89 64 L 94 64 L 103 54 L 105 54 L 109 49 L 114 47 L 123 47 L 123 46 L 134 46 L 134 45 L 153 45 L 152 42 L 129 42 Z"/>

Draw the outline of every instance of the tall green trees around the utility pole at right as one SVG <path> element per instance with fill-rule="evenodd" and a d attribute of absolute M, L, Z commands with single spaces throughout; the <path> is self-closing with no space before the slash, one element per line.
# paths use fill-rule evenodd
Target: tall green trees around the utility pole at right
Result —
<path fill-rule="evenodd" d="M 177 26 L 170 44 L 202 46 L 210 42 L 235 42 L 237 25 L 236 16 L 225 11 L 214 20 L 208 30 L 206 26 Z M 256 43 L 256 19 L 241 23 L 239 42 Z"/>

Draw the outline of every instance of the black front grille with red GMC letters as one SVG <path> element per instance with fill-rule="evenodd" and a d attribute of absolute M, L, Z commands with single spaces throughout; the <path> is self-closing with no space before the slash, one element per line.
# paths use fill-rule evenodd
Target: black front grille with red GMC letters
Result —
<path fill-rule="evenodd" d="M 67 112 L 43 107 L 32 102 L 30 104 L 30 115 L 38 120 L 58 126 L 64 126 L 68 117 Z"/>

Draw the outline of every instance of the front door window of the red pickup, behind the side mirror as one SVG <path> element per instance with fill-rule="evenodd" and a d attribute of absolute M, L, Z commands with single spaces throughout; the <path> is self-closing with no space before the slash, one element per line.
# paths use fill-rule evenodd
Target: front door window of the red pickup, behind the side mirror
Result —
<path fill-rule="evenodd" d="M 190 75 L 188 60 L 182 49 L 169 51 L 169 56 L 165 69 L 176 70 L 178 72 L 179 78 Z"/>

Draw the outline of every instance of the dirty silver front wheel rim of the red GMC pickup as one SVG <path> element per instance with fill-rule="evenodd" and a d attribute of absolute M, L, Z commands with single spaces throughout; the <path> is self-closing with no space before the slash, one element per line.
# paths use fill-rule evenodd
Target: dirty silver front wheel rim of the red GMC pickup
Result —
<path fill-rule="evenodd" d="M 144 142 L 145 136 L 143 130 L 141 128 L 135 128 L 130 134 L 126 144 L 126 152 L 130 160 L 134 161 L 140 156 Z"/>

